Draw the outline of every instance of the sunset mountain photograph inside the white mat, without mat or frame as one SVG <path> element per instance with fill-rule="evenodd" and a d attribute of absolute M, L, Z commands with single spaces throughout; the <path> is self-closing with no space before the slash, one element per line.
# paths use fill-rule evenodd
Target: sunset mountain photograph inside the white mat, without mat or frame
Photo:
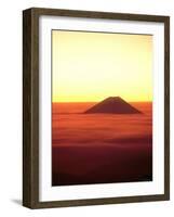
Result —
<path fill-rule="evenodd" d="M 52 186 L 152 181 L 153 36 L 51 34 Z"/>

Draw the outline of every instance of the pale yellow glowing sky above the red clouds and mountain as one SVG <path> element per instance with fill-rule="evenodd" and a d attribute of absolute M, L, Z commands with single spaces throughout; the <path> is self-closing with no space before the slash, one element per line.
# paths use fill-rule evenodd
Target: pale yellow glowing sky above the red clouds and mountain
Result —
<path fill-rule="evenodd" d="M 52 30 L 52 101 L 152 101 L 152 36 Z"/>

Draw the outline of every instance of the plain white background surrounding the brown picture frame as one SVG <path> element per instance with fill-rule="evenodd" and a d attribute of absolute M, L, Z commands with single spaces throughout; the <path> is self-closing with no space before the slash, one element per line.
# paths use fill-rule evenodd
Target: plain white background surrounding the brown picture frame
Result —
<path fill-rule="evenodd" d="M 22 10 L 30 7 L 148 13 L 171 16 L 171 60 L 173 56 L 173 0 L 15 0 L 0 8 L 0 215 L 1 216 L 173 216 L 174 212 L 174 116 L 171 114 L 171 201 L 105 206 L 30 210 L 22 199 Z M 171 61 L 171 84 L 174 84 Z M 171 111 L 174 86 L 171 88 Z"/>

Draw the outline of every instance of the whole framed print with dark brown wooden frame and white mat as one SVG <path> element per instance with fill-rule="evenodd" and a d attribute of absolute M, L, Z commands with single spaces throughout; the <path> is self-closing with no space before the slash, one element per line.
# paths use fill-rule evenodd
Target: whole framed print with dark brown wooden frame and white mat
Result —
<path fill-rule="evenodd" d="M 170 199 L 170 17 L 23 12 L 23 204 Z"/>

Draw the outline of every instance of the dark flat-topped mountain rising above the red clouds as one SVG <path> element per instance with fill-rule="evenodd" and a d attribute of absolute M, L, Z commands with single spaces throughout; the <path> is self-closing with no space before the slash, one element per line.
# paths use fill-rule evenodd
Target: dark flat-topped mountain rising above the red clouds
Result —
<path fill-rule="evenodd" d="M 142 114 L 120 97 L 109 97 L 102 102 L 95 104 L 91 108 L 86 110 L 84 114 L 93 113 L 110 113 L 110 114 Z"/>

